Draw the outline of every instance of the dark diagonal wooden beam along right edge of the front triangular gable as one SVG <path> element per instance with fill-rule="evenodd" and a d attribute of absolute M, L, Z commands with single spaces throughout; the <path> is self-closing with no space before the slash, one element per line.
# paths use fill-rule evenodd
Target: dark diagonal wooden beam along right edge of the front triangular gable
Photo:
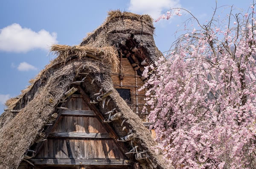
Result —
<path fill-rule="evenodd" d="M 87 96 L 87 94 L 84 92 L 81 86 L 78 86 L 78 91 L 83 96 L 83 99 L 87 103 L 87 106 L 90 108 L 90 110 L 93 110 L 93 112 L 97 115 L 96 117 L 102 123 L 105 130 L 107 130 L 110 136 L 114 138 L 115 143 L 119 146 L 119 149 L 122 151 L 122 153 L 125 155 L 126 152 L 129 152 L 124 143 L 116 141 L 119 138 L 119 136 L 116 134 L 115 130 L 113 130 L 113 128 L 109 124 L 104 123 L 104 116 L 102 115 L 102 113 L 99 112 L 98 108 L 94 104 L 90 104 L 90 98 L 89 96 Z"/>

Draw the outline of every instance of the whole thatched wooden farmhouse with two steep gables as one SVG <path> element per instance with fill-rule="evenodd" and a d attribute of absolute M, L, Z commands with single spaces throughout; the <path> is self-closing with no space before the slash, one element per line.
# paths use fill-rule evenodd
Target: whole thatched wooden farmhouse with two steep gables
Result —
<path fill-rule="evenodd" d="M 144 67 L 162 56 L 151 17 L 110 11 L 6 102 L 1 169 L 170 169 L 146 119 Z"/>

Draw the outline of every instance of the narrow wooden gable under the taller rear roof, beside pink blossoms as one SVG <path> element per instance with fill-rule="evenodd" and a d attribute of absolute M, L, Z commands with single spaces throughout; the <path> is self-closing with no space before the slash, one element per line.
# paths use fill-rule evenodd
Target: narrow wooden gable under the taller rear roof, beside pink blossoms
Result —
<path fill-rule="evenodd" d="M 147 62 L 145 62 L 147 60 Z M 111 78 L 113 85 L 120 96 L 127 102 L 128 106 L 134 113 L 140 116 L 143 122 L 147 123 L 149 107 L 143 108 L 145 104 L 146 90 L 139 89 L 148 79 L 142 76 L 144 67 L 148 65 L 149 59 L 143 53 L 143 48 L 134 40 L 128 40 L 119 50 L 119 72 L 112 73 Z M 130 99 L 124 98 L 120 92 L 129 90 Z"/>

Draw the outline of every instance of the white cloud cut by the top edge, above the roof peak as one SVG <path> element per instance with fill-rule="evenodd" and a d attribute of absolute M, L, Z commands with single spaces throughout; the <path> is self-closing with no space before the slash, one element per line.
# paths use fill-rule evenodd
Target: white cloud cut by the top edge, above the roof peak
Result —
<path fill-rule="evenodd" d="M 130 0 L 128 9 L 138 14 L 149 14 L 157 19 L 163 10 L 180 7 L 180 0 Z"/>

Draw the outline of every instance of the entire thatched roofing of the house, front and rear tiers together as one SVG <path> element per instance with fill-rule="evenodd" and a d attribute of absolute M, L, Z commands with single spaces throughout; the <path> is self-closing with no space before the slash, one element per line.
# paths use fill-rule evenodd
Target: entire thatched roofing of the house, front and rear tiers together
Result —
<path fill-rule="evenodd" d="M 141 23 L 143 27 L 147 27 L 146 30 L 148 29 L 148 32 L 151 29 L 150 37 L 149 34 L 144 35 L 141 33 L 140 37 L 136 37 L 136 34 L 134 34 L 132 38 L 135 38 L 139 43 L 146 44 L 145 52 L 152 54 L 152 56 L 150 55 L 151 59 L 159 56 L 159 51 L 154 45 L 152 36 L 154 29 L 152 20 L 148 16 L 143 17 L 131 13 L 120 14 L 119 11 L 116 13 L 112 11 L 110 18 L 107 18 L 104 23 L 103 29 L 98 28 L 101 29 L 98 30 L 99 34 L 96 34 L 96 30 L 80 46 L 54 45 L 52 47 L 52 51 L 58 57 L 52 60 L 35 79 L 30 81 L 31 85 L 23 90 L 20 96 L 6 102 L 8 110 L 0 116 L 1 169 L 11 169 L 19 166 L 26 151 L 35 143 L 40 131 L 47 123 L 47 119 L 56 111 L 56 107 L 64 93 L 70 88 L 73 81 L 81 80 L 81 74 L 84 73 L 89 73 L 87 79 L 81 83 L 85 92 L 92 98 L 93 94 L 99 91 L 100 88 L 103 91 L 113 90 L 110 95 L 111 104 L 115 105 L 116 109 L 122 113 L 122 118 L 126 119 L 129 130 L 137 133 L 136 140 L 140 143 L 140 149 L 147 151 L 150 161 L 155 163 L 157 168 L 172 168 L 163 159 L 160 151 L 155 152 L 151 148 L 156 143 L 151 138 L 149 130 L 143 126 L 141 119 L 134 115 L 126 102 L 116 92 L 110 76 L 110 72 L 114 71 L 113 65 L 118 64 L 118 44 L 120 45 L 122 40 L 131 39 L 132 35 L 130 33 L 127 35 L 124 32 L 105 32 L 107 31 L 105 28 L 114 24 L 113 22 L 129 24 L 128 20 L 130 20 L 131 22 Z M 118 32 L 119 30 L 116 31 Z M 122 39 L 118 40 L 119 37 L 122 37 Z M 96 85 L 91 85 L 92 79 L 94 79 Z M 16 115 L 12 113 L 12 110 L 20 110 L 20 112 Z M 100 105 L 99 110 L 102 114 L 106 111 Z M 113 125 L 113 127 L 120 137 L 127 134 L 117 125 Z"/>

